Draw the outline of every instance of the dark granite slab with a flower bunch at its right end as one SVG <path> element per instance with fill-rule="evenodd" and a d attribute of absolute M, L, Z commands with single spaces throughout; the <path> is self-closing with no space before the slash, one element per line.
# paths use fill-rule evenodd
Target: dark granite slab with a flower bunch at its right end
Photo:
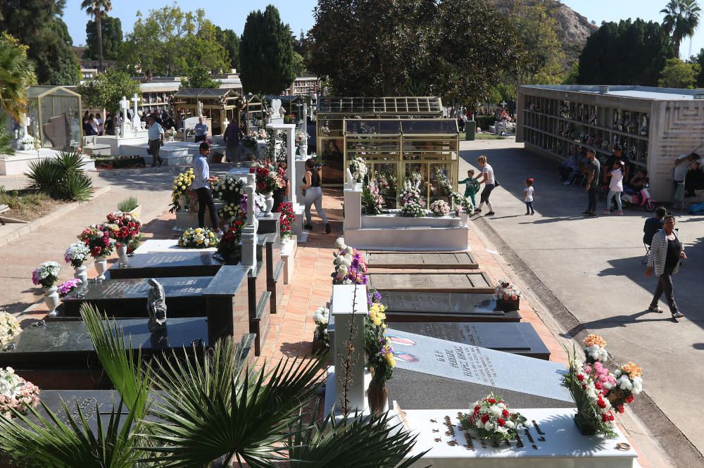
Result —
<path fill-rule="evenodd" d="M 517 311 L 496 310 L 496 297 L 472 293 L 380 291 L 386 322 L 520 322 Z"/>

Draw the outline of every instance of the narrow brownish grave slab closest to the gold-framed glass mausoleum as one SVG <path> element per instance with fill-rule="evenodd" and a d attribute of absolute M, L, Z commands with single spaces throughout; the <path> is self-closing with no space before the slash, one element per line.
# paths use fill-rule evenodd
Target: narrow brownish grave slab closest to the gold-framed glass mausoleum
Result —
<path fill-rule="evenodd" d="M 367 267 L 475 270 L 479 264 L 469 252 L 367 252 Z"/>

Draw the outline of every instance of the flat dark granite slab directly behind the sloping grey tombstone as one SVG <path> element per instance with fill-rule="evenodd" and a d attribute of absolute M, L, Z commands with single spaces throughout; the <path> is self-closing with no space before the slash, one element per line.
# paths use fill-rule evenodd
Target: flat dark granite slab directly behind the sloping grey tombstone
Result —
<path fill-rule="evenodd" d="M 394 330 L 529 358 L 550 359 L 550 350 L 529 323 L 403 322 L 391 324 L 389 332 Z"/>

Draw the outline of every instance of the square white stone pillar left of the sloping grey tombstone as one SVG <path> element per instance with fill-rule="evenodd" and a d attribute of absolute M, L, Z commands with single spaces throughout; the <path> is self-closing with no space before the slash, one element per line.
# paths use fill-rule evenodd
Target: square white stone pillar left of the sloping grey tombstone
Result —
<path fill-rule="evenodd" d="M 367 407 L 364 396 L 366 286 L 336 284 L 332 286 L 331 302 L 330 313 L 335 317 L 335 412 L 343 412 L 345 407 L 350 414 L 363 412 Z"/>

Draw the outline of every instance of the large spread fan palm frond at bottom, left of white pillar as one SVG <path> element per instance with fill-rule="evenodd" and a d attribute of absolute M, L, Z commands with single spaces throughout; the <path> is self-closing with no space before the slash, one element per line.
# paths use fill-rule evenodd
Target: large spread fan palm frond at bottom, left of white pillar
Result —
<path fill-rule="evenodd" d="M 155 372 L 164 393 L 151 413 L 162 467 L 201 468 L 225 457 L 250 467 L 275 467 L 284 455 L 288 429 L 320 385 L 325 356 L 281 360 L 267 372 L 237 372 L 231 338 L 215 343 L 203 364 L 170 360 Z"/>

